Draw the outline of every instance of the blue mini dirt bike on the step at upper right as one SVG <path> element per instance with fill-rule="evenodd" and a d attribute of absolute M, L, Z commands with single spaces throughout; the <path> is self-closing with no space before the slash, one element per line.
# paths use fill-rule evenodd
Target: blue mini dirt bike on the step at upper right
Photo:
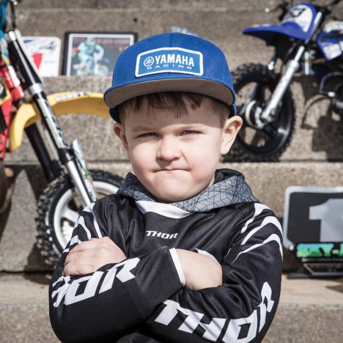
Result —
<path fill-rule="evenodd" d="M 244 161 L 277 161 L 289 145 L 295 123 L 290 84 L 296 73 L 315 75 L 319 93 L 343 113 L 343 21 L 331 16 L 340 2 L 317 6 L 315 1 L 285 1 L 280 24 L 254 25 L 243 30 L 275 48 L 267 65 L 244 64 L 232 73 L 237 113 L 243 127 L 233 153 Z M 266 10 L 270 11 L 270 10 Z M 277 61 L 282 66 L 276 71 Z"/>

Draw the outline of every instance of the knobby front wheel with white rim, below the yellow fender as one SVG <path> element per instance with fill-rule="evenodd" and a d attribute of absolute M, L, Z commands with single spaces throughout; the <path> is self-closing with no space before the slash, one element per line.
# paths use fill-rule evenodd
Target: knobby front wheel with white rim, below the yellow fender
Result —
<path fill-rule="evenodd" d="M 116 193 L 123 182 L 121 177 L 101 170 L 90 170 L 90 173 L 100 198 Z M 48 265 L 57 264 L 82 209 L 82 201 L 66 176 L 53 180 L 40 196 L 37 245 Z"/>

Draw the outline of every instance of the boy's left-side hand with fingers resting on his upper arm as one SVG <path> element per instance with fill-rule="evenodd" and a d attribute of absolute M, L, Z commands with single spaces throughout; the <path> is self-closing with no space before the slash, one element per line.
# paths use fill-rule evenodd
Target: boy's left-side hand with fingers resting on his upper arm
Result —
<path fill-rule="evenodd" d="M 68 253 L 63 274 L 84 275 L 93 273 L 108 263 L 119 263 L 126 256 L 109 238 L 91 238 L 76 245 Z"/>

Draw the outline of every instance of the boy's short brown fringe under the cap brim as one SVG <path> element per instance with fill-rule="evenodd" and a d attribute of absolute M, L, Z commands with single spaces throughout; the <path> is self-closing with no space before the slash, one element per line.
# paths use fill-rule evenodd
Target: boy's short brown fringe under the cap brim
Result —
<path fill-rule="evenodd" d="M 173 109 L 175 118 L 188 114 L 186 103 L 189 102 L 192 109 L 197 109 L 203 102 L 206 102 L 207 106 L 218 115 L 222 127 L 232 113 L 229 105 L 218 100 L 191 92 L 170 91 L 147 94 L 124 101 L 117 107 L 120 121 L 123 122 L 125 119 L 127 109 L 137 113 L 142 107 L 144 99 L 147 99 L 148 102 L 148 112 L 153 108 L 170 108 Z"/>

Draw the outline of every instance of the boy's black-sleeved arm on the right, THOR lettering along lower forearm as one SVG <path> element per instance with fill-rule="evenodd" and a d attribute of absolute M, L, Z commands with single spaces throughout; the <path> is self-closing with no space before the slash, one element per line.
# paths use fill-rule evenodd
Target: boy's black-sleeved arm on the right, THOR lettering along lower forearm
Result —
<path fill-rule="evenodd" d="M 236 228 L 221 261 L 223 283 L 182 288 L 146 321 L 153 335 L 168 341 L 260 342 L 278 303 L 282 273 L 282 233 L 265 207 Z M 243 216 L 244 217 L 244 216 Z"/>

